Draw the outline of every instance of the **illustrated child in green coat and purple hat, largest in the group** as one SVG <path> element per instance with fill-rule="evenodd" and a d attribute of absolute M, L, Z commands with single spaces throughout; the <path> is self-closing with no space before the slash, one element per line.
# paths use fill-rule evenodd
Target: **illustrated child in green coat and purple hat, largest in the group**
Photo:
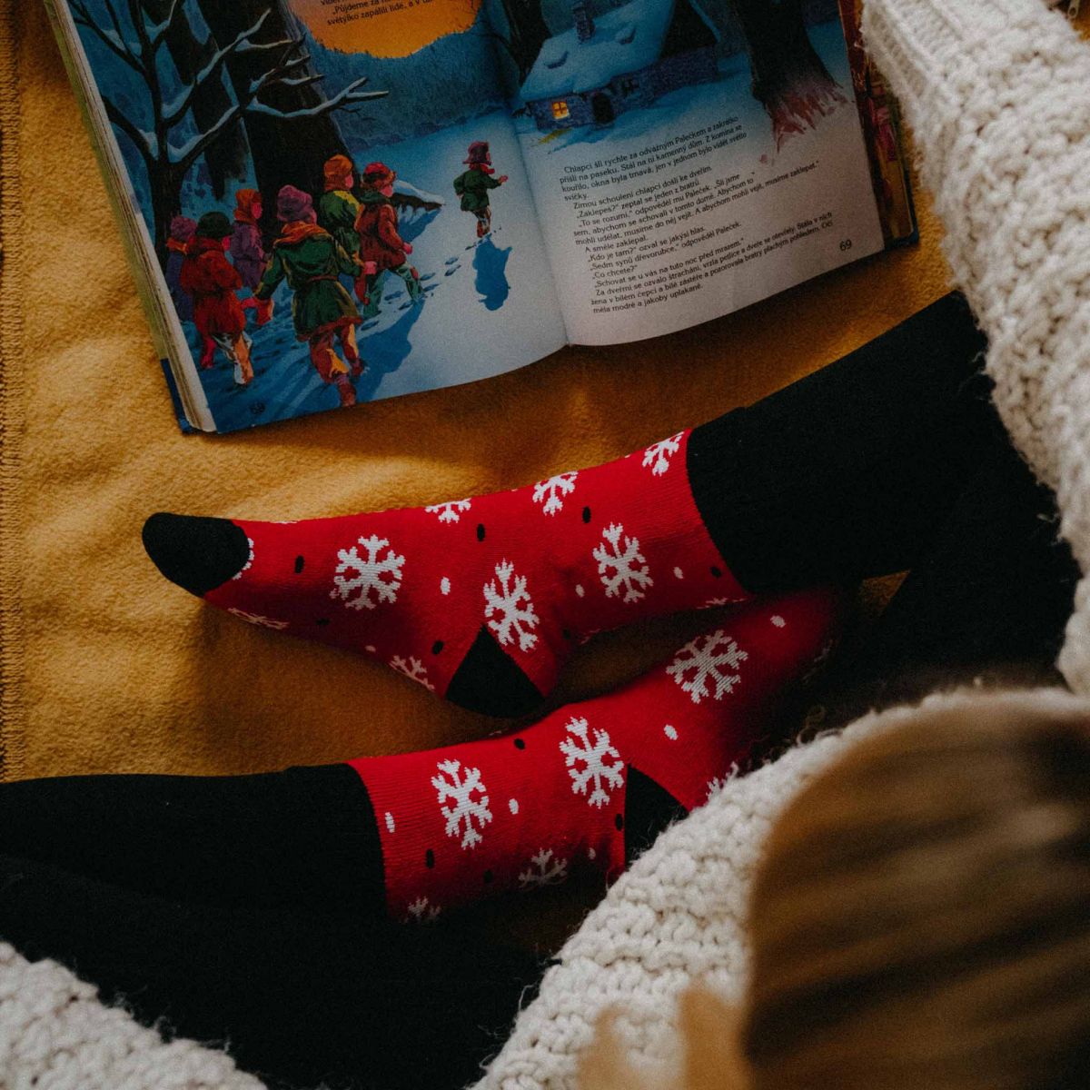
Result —
<path fill-rule="evenodd" d="M 355 344 L 355 327 L 361 318 L 340 277 L 359 276 L 360 264 L 318 226 L 310 194 L 294 185 L 280 190 L 277 219 L 283 228 L 272 243 L 272 259 L 255 298 L 271 299 L 280 281 L 287 279 L 295 293 L 291 314 L 296 338 L 310 343 L 314 370 L 324 383 L 337 387 L 341 404 L 354 405 L 355 390 L 349 374 L 363 374 L 364 364 Z M 338 343 L 343 360 L 337 354 Z"/>

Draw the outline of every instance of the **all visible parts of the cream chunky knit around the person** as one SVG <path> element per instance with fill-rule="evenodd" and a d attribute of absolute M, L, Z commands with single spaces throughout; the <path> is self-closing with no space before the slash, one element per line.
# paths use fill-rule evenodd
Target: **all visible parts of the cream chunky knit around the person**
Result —
<path fill-rule="evenodd" d="M 944 247 L 986 331 L 995 400 L 1062 532 L 1090 571 L 1090 49 L 1042 0 L 868 0 L 868 45 L 899 96 Z M 1090 695 L 1090 580 L 1059 666 Z M 965 697 L 932 697 L 929 703 Z M 1008 701 L 1078 698 L 1050 690 Z M 742 919 L 776 814 L 853 740 L 901 720 L 868 716 L 843 735 L 729 782 L 668 829 L 588 917 L 546 973 L 479 1090 L 574 1087 L 577 1056 L 604 1009 L 645 1063 L 669 1063 L 675 998 L 705 978 L 744 980 Z M 1090 705 L 1088 705 L 1090 714 Z M 165 1043 L 93 988 L 0 945 L 0 1086 L 13 1090 L 257 1090 L 222 1053 Z"/>

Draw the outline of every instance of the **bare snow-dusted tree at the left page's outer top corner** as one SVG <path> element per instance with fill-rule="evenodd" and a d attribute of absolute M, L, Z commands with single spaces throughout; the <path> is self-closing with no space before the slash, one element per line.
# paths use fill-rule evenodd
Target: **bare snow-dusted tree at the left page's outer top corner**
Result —
<path fill-rule="evenodd" d="M 271 14 L 267 3 L 261 5 L 265 10 L 257 19 L 230 37 L 220 37 L 213 28 L 218 43 L 215 52 L 187 85 L 183 85 L 178 92 L 170 92 L 160 75 L 159 53 L 178 21 L 185 17 L 184 0 L 169 0 L 165 17 L 158 22 L 148 20 L 142 0 L 125 0 L 128 21 L 123 21 L 119 10 L 121 2 L 122 0 L 104 0 L 109 26 L 100 25 L 93 17 L 87 0 L 70 0 L 70 5 L 75 22 L 93 32 L 119 61 L 140 76 L 147 89 L 150 131 L 126 117 L 105 95 L 102 102 L 110 122 L 132 142 L 144 161 L 152 197 L 155 247 L 164 264 L 167 259 L 170 220 L 181 210 L 185 175 L 208 148 L 240 122 L 263 117 L 277 122 L 306 120 L 317 123 L 335 110 L 386 95 L 384 90 L 363 90 L 367 83 L 364 77 L 353 81 L 331 98 L 315 95 L 313 105 L 298 109 L 284 110 L 274 101 L 266 100 L 266 95 L 271 97 L 284 88 L 290 88 L 298 95 L 305 88 L 313 88 L 322 78 L 311 71 L 310 55 L 299 37 L 259 37 Z M 222 3 L 221 7 L 235 9 L 243 7 L 243 3 Z M 220 82 L 225 65 L 243 57 L 252 64 L 254 75 L 244 85 L 232 80 L 234 100 L 225 107 L 211 124 L 196 128 L 180 146 L 172 143 L 172 137 L 179 135 L 179 126 L 192 116 L 202 90 L 211 81 Z M 251 146 L 254 147 L 252 138 Z"/>

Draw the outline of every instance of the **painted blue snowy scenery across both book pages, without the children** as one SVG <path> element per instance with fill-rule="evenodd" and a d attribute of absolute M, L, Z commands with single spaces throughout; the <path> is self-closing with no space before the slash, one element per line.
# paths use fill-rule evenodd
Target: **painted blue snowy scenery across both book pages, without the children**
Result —
<path fill-rule="evenodd" d="M 579 126 L 606 132 L 625 111 L 713 84 L 729 63 L 746 64 L 777 147 L 845 101 L 811 40 L 837 0 L 485 0 L 470 29 L 403 58 L 323 46 L 290 0 L 69 0 L 69 9 L 168 282 L 179 261 L 171 226 L 210 213 L 230 219 L 240 191 L 261 195 L 267 255 L 284 186 L 317 204 L 335 156 L 351 160 L 358 185 L 368 164 L 396 173 L 389 201 L 422 290 L 378 278 L 377 313 L 358 328 L 359 400 L 486 377 L 564 342 L 520 152 L 526 123 L 543 140 Z M 482 142 L 489 171 L 511 182 L 494 192 L 491 230 L 477 237 L 451 183 Z M 170 287 L 204 362 L 207 336 Z M 253 380 L 239 382 L 230 346 L 201 371 L 220 429 L 338 403 L 292 328 L 291 293 L 277 292 L 267 324 L 247 315 Z"/>

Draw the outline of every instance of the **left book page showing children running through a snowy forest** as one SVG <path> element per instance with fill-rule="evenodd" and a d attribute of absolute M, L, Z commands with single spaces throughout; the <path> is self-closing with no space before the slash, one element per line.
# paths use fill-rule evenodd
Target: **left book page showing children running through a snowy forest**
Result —
<path fill-rule="evenodd" d="M 58 8 L 183 355 L 172 373 L 216 431 L 565 343 L 474 0 Z"/>

